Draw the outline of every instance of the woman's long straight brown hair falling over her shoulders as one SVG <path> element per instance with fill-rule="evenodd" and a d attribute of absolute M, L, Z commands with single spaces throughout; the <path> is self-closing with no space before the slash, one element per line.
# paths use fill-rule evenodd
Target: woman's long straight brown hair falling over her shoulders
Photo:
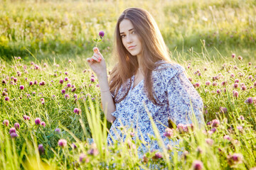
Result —
<path fill-rule="evenodd" d="M 117 98 L 117 93 L 122 84 L 124 86 L 124 83 L 128 79 L 131 81 L 132 75 L 136 74 L 139 68 L 137 57 L 132 56 L 122 44 L 119 34 L 119 24 L 124 19 L 132 22 L 134 30 L 142 41 L 142 57 L 138 58 L 138 60 L 142 61 L 140 63 L 142 64 L 142 72 L 144 73 L 144 89 L 146 95 L 154 104 L 159 104 L 156 102 L 157 98 L 154 98 L 155 92 L 152 89 L 151 72 L 156 67 L 155 63 L 157 61 L 171 61 L 168 49 L 154 18 L 148 11 L 142 8 L 127 8 L 124 10 L 121 16 L 119 16 L 117 26 L 115 27 L 114 57 L 117 57 L 118 63 L 112 69 L 109 81 L 110 91 L 114 94 L 114 103 L 119 103 L 127 96 L 131 83 L 126 88 L 127 91 L 125 91 L 123 96 Z"/>

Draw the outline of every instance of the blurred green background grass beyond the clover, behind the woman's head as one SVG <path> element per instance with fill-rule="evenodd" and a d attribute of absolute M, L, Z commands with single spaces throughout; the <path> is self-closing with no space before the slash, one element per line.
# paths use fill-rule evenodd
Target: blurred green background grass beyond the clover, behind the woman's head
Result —
<path fill-rule="evenodd" d="M 206 40 L 210 56 L 215 47 L 224 56 L 255 58 L 255 1 L 2 1 L 0 56 L 41 59 L 55 55 L 88 55 L 92 38 L 104 30 L 100 48 L 111 56 L 114 26 L 120 13 L 137 6 L 156 19 L 171 51 L 201 51 Z M 110 49 L 108 49 L 110 47 Z M 62 57 L 62 58 L 63 58 Z"/>

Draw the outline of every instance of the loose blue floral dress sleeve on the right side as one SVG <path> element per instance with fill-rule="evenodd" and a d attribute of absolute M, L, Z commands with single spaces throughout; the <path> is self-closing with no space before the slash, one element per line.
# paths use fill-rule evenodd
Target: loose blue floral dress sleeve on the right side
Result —
<path fill-rule="evenodd" d="M 203 101 L 196 89 L 188 80 L 185 69 L 178 66 L 179 71 L 166 83 L 166 94 L 169 103 L 169 119 L 176 125 L 186 125 L 192 120 L 198 122 L 199 127 L 204 126 Z"/>

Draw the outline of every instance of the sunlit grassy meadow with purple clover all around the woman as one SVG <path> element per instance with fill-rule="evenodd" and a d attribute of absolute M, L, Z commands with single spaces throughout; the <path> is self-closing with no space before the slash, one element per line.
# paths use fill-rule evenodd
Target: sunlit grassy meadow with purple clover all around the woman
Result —
<path fill-rule="evenodd" d="M 256 169 L 255 1 L 0 2 L 0 169 Z M 179 144 L 142 159 L 129 130 L 107 147 L 111 123 L 86 64 L 104 30 L 112 69 L 114 24 L 129 6 L 152 13 L 206 120 L 166 128 Z"/>

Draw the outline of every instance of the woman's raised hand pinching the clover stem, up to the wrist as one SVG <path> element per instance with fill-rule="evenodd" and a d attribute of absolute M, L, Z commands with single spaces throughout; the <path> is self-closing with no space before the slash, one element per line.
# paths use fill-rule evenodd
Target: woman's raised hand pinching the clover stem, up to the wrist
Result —
<path fill-rule="evenodd" d="M 98 79 L 107 75 L 106 62 L 100 50 L 97 47 L 93 48 L 93 56 L 87 58 L 87 62 L 91 67 L 92 71 L 95 72 Z"/>

